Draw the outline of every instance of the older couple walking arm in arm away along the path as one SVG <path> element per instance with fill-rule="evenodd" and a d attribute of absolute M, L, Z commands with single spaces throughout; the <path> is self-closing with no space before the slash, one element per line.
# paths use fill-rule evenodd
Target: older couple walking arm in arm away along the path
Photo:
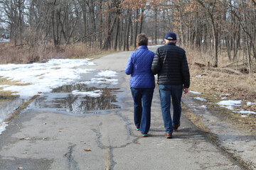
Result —
<path fill-rule="evenodd" d="M 167 33 L 165 45 L 156 53 L 148 50 L 148 38 L 145 34 L 137 36 L 138 50 L 129 56 L 125 73 L 131 74 L 129 85 L 134 100 L 134 124 L 136 130 L 147 137 L 151 120 L 151 101 L 154 94 L 154 74 L 157 74 L 161 112 L 166 130 L 165 137 L 172 138 L 172 133 L 181 125 L 181 96 L 188 93 L 190 74 L 186 52 L 176 46 L 176 34 Z M 173 118 L 171 118 L 171 101 Z"/>

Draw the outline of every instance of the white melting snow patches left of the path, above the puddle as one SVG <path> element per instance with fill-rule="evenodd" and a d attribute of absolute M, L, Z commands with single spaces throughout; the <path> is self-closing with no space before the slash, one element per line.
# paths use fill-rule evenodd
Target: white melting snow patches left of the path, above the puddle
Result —
<path fill-rule="evenodd" d="M 29 98 L 41 93 L 50 92 L 52 89 L 58 88 L 66 84 L 72 84 L 75 80 L 80 79 L 80 74 L 85 74 L 94 69 L 80 69 L 80 66 L 95 65 L 90 60 L 73 60 L 73 59 L 53 59 L 46 63 L 33 64 L 0 64 L 0 77 L 4 77 L 11 81 L 20 81 L 26 86 L 9 86 L 1 85 L 0 91 L 16 92 L 21 98 Z M 98 78 L 91 79 L 81 83 L 85 84 L 117 84 L 117 72 L 110 70 L 100 71 Z M 91 97 L 99 97 L 101 91 L 73 91 L 76 95 L 85 95 Z M 7 123 L 5 118 L 0 117 L 0 135 L 5 130 Z"/>

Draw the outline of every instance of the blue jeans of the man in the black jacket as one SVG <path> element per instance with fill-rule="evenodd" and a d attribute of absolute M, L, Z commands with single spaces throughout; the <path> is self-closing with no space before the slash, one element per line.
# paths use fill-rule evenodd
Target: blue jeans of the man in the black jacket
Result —
<path fill-rule="evenodd" d="M 161 100 L 161 111 L 164 119 L 164 128 L 168 133 L 172 133 L 174 131 L 173 125 L 178 125 L 178 123 L 180 123 L 182 92 L 182 85 L 159 84 L 159 94 Z M 170 111 L 171 101 L 173 106 L 173 122 L 171 120 Z"/>

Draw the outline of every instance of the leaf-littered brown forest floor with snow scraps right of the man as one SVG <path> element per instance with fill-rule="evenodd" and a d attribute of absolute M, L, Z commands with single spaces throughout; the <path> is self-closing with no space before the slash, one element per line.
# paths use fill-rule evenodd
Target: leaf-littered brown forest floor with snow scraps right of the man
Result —
<path fill-rule="evenodd" d="M 235 74 L 225 70 L 190 66 L 191 91 L 200 94 L 190 96 L 206 99 L 207 109 L 218 118 L 228 121 L 250 134 L 256 135 L 256 74 Z M 218 105 L 220 101 L 241 101 L 228 109 Z M 239 111 L 243 111 L 239 113 Z M 248 114 L 249 113 L 249 114 Z"/>

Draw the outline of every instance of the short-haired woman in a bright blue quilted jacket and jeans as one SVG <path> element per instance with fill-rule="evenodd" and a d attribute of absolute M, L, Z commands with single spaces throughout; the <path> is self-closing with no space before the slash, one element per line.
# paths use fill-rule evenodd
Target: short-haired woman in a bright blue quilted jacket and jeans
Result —
<path fill-rule="evenodd" d="M 148 50 L 148 38 L 142 33 L 137 36 L 138 50 L 129 56 L 125 74 L 131 74 L 129 85 L 134 100 L 134 123 L 136 130 L 147 137 L 150 128 L 151 102 L 154 93 L 154 75 L 151 73 L 151 63 L 154 52 Z"/>

